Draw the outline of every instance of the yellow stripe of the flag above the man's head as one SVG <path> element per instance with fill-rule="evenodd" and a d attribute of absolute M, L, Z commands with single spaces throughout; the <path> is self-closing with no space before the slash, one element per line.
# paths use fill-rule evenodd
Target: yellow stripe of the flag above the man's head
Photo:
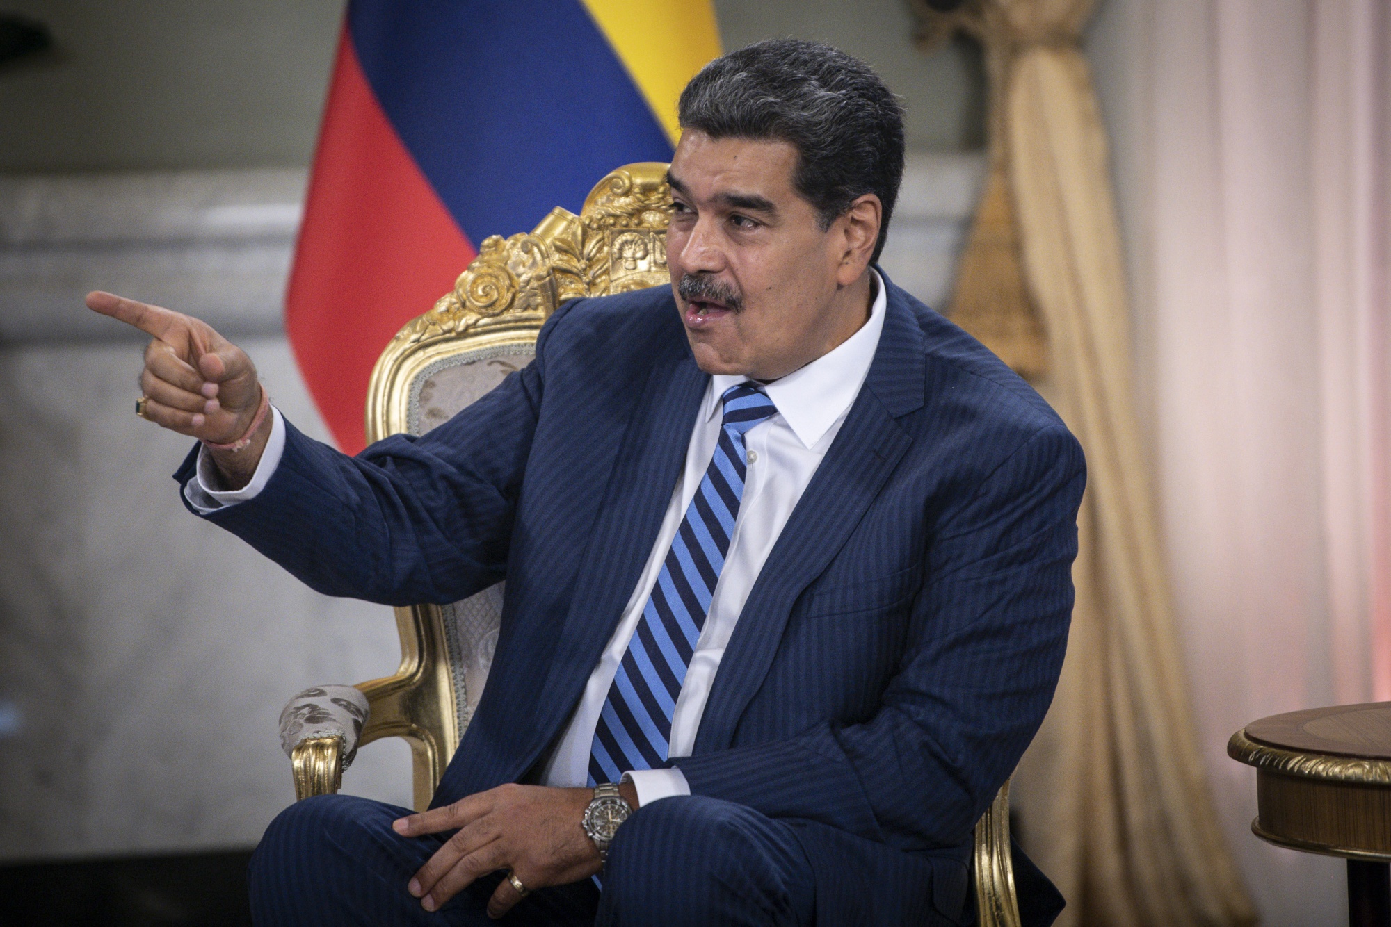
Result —
<path fill-rule="evenodd" d="M 719 57 L 711 0 L 584 0 L 584 6 L 676 145 L 676 99 L 705 63 Z"/>

